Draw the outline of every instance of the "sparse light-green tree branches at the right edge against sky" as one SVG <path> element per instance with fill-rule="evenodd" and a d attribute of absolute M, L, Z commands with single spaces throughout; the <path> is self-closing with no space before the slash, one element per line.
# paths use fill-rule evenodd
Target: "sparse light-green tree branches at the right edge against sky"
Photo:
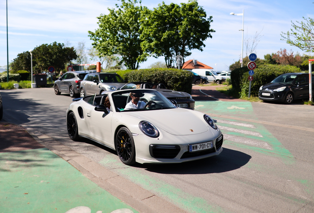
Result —
<path fill-rule="evenodd" d="M 306 52 L 314 52 L 314 19 L 303 19 L 301 22 L 296 21 L 297 24 L 291 21 L 292 29 L 287 33 L 281 32 L 281 40 Z"/>

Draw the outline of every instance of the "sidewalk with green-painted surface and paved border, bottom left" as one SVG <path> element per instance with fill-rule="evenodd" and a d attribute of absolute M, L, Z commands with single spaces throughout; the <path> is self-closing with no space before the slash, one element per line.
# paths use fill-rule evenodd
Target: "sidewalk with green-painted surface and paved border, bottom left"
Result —
<path fill-rule="evenodd" d="M 184 211 L 48 136 L 2 120 L 0 213 L 11 212 Z"/>

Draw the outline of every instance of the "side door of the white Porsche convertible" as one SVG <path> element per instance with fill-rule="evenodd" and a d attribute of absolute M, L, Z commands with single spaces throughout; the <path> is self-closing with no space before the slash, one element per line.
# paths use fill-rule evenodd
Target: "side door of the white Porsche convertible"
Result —
<path fill-rule="evenodd" d="M 86 110 L 86 123 L 93 139 L 98 142 L 112 146 L 112 129 L 111 121 L 115 112 L 109 111 L 105 114 L 101 111 L 96 111 L 95 106 L 89 105 Z"/>

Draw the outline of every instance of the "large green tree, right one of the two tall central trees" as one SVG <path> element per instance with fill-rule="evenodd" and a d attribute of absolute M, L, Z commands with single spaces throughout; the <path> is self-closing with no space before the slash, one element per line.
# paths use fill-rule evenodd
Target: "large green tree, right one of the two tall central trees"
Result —
<path fill-rule="evenodd" d="M 153 11 L 145 8 L 140 21 L 143 50 L 156 58 L 163 56 L 168 68 L 173 56 L 181 55 L 184 63 L 192 49 L 202 51 L 203 41 L 215 32 L 210 29 L 212 16 L 206 19 L 196 0 L 181 5 L 162 2 Z"/>

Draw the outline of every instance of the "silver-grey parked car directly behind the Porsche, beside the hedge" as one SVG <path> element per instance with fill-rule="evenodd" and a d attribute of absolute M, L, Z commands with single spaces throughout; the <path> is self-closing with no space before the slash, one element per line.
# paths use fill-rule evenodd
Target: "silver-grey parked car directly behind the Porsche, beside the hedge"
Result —
<path fill-rule="evenodd" d="M 87 74 L 80 83 L 80 97 L 114 91 L 125 84 L 123 78 L 112 72 L 93 72 Z"/>

